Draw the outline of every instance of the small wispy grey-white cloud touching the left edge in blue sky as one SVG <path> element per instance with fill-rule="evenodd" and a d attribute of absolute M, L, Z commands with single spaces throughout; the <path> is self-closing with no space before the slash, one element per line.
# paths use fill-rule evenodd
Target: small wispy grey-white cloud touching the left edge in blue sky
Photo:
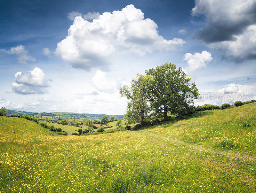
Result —
<path fill-rule="evenodd" d="M 27 64 L 28 61 L 36 61 L 34 57 L 28 55 L 28 50 L 25 50 L 23 45 L 17 45 L 16 47 L 10 48 L 10 50 L 0 49 L 0 52 L 18 55 L 17 59 L 20 64 Z"/>

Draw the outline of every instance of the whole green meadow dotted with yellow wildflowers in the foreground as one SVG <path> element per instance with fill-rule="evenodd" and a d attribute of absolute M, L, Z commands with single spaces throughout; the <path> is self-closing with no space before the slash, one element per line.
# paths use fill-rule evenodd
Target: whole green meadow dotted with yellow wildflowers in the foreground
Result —
<path fill-rule="evenodd" d="M 0 192 L 256 192 L 255 120 L 238 120 L 255 114 L 254 103 L 88 136 L 0 117 Z"/>

